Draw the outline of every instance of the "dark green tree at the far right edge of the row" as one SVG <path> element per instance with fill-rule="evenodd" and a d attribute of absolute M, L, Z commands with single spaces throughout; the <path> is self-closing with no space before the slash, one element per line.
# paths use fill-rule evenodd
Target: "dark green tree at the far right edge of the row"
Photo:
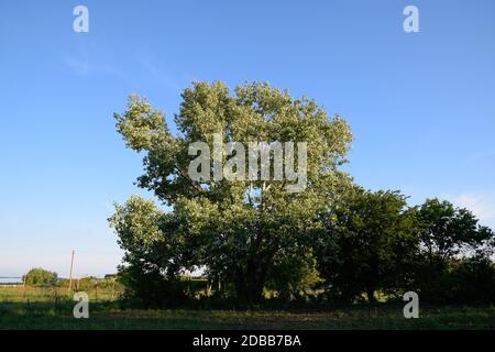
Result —
<path fill-rule="evenodd" d="M 468 209 L 428 199 L 417 210 L 420 258 L 415 287 L 435 302 L 495 301 L 494 232 Z"/>

